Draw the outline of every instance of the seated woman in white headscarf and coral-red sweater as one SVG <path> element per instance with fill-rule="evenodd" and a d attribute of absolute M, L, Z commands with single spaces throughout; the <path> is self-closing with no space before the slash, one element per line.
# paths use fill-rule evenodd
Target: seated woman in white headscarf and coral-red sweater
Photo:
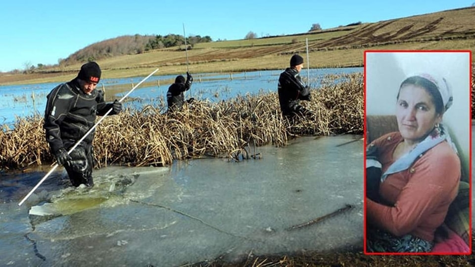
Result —
<path fill-rule="evenodd" d="M 367 173 L 367 252 L 432 250 L 461 177 L 457 150 L 442 124 L 452 100 L 445 79 L 418 74 L 401 83 L 399 131 L 367 148 L 367 167 L 381 174 Z"/>

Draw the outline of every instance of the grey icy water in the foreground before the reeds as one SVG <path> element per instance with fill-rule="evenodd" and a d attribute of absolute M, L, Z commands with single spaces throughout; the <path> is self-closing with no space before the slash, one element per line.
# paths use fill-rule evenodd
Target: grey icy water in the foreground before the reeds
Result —
<path fill-rule="evenodd" d="M 180 266 L 362 247 L 360 137 L 300 137 L 239 162 L 107 167 L 91 189 L 68 187 L 58 170 L 21 207 L 45 172 L 3 174 L 0 266 Z"/>

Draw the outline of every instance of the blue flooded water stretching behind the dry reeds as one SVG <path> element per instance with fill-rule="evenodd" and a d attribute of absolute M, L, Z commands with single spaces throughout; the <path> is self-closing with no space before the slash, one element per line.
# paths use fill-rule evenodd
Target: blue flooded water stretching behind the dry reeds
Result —
<path fill-rule="evenodd" d="M 363 72 L 363 68 L 327 68 L 311 69 L 312 88 L 320 86 L 321 79 L 328 74 L 344 74 Z M 186 92 L 186 97 L 194 97 L 211 102 L 227 100 L 238 94 L 256 94 L 259 92 L 277 91 L 277 81 L 280 71 L 256 71 L 233 74 L 201 73 L 193 74 L 194 81 L 191 89 Z M 306 70 L 302 71 L 302 77 L 306 79 Z M 125 107 L 141 109 L 147 104 L 156 104 L 160 99 L 165 100 L 170 83 L 176 75 L 160 75 L 159 72 L 146 80 L 152 86 L 140 86 L 126 99 Z M 114 96 L 120 98 L 127 90 L 132 89 L 144 77 L 101 79 L 98 89 L 105 89 L 107 101 L 112 101 Z M 68 82 L 68 81 L 64 81 Z M 43 115 L 46 106 L 46 96 L 59 83 L 46 83 L 36 85 L 0 86 L 0 124 L 11 125 L 17 117 L 32 116 L 35 113 Z M 109 87 L 125 86 L 124 93 L 115 95 L 109 92 Z"/>

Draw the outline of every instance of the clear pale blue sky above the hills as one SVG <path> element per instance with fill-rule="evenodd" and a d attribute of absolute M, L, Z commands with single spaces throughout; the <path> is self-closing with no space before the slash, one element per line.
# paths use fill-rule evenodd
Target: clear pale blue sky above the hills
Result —
<path fill-rule="evenodd" d="M 123 35 L 238 40 L 303 33 L 471 6 L 475 0 L 1 0 L 0 72 L 56 64 L 87 45 Z"/>

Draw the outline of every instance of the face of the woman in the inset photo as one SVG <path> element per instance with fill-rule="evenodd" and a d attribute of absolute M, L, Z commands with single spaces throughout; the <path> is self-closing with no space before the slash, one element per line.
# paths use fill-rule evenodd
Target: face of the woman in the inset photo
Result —
<path fill-rule="evenodd" d="M 422 141 L 435 124 L 442 121 L 442 115 L 435 112 L 429 93 L 415 85 L 405 85 L 400 89 L 396 118 L 402 137 L 417 142 Z"/>

